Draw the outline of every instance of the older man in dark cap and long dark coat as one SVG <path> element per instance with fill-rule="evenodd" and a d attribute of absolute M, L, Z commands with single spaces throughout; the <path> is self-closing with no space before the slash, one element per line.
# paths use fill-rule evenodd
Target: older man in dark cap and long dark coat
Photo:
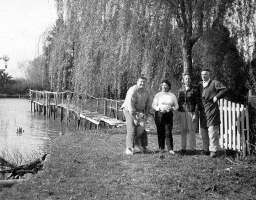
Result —
<path fill-rule="evenodd" d="M 202 82 L 198 84 L 201 98 L 200 127 L 203 140 L 203 154 L 216 156 L 219 146 L 220 112 L 218 100 L 224 98 L 227 88 L 217 80 L 210 79 L 210 71 L 201 71 Z"/>

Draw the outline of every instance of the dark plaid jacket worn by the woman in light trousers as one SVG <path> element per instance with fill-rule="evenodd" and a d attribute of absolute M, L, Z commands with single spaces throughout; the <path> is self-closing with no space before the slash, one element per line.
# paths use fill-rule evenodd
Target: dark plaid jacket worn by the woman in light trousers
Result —
<path fill-rule="evenodd" d="M 185 86 L 182 86 L 179 90 L 177 100 L 179 112 L 185 112 L 185 106 L 187 106 L 188 111 L 198 114 L 200 99 L 197 88 L 192 86 L 190 89 L 186 90 Z"/>

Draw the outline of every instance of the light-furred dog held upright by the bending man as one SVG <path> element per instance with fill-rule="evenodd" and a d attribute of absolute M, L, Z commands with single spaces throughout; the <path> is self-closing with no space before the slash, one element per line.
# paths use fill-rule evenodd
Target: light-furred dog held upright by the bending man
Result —
<path fill-rule="evenodd" d="M 134 146 L 137 146 L 139 148 L 139 150 L 141 152 L 143 152 L 141 137 L 146 128 L 145 114 L 142 112 L 138 112 L 138 113 L 136 113 L 136 117 L 138 119 L 138 125 L 137 125 L 137 129 L 136 129 L 136 134 L 135 134 L 135 145 Z"/>

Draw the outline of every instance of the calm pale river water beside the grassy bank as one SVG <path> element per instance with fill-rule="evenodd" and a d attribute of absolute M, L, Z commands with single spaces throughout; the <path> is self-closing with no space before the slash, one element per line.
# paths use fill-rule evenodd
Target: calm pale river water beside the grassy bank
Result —
<path fill-rule="evenodd" d="M 20 127 L 22 131 L 18 133 Z M 21 152 L 29 157 L 33 152 L 43 152 L 50 137 L 75 131 L 74 126 L 60 122 L 60 118 L 54 120 L 53 116 L 30 112 L 28 99 L 0 98 L 0 156 Z"/>

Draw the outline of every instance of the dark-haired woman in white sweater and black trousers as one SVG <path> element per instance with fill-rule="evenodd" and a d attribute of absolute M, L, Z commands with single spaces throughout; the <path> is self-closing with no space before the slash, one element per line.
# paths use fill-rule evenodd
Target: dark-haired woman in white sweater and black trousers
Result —
<path fill-rule="evenodd" d="M 155 95 L 152 108 L 155 110 L 155 124 L 160 152 L 164 152 L 166 140 L 167 150 L 170 154 L 175 154 L 173 151 L 172 126 L 173 111 L 178 110 L 178 102 L 176 96 L 169 91 L 170 89 L 171 83 L 168 80 L 163 80 L 162 91 Z"/>

